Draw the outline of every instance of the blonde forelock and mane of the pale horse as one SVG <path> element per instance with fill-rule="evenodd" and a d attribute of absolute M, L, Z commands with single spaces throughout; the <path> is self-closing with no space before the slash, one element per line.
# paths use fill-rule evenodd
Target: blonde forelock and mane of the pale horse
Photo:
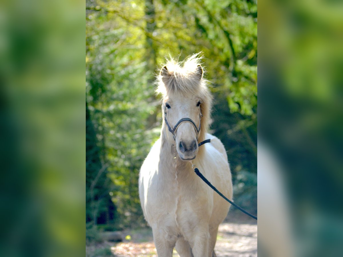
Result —
<path fill-rule="evenodd" d="M 167 59 L 162 65 L 161 72 L 156 77 L 156 93 L 161 94 L 165 99 L 169 94 L 193 96 L 201 99 L 201 130 L 199 142 L 205 140 L 211 120 L 212 95 L 208 89 L 208 81 L 203 78 L 203 68 L 201 66 L 199 53 L 193 54 L 182 62 L 173 58 Z M 163 73 L 166 68 L 168 74 Z"/>

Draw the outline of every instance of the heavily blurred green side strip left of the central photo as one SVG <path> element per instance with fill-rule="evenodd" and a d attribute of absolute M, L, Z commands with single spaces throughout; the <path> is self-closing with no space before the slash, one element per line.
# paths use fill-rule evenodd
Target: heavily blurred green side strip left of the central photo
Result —
<path fill-rule="evenodd" d="M 0 20 L 0 256 L 84 256 L 84 7 L 5 0 Z"/>

